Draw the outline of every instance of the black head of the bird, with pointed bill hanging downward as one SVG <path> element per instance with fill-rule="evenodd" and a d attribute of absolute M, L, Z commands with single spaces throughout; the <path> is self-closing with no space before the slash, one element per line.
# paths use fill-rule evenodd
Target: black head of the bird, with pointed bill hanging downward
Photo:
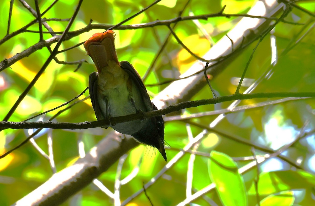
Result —
<path fill-rule="evenodd" d="M 157 148 L 167 161 L 164 149 L 164 121 L 162 116 L 152 117 L 144 121 L 146 121 L 145 126 L 132 136 L 140 143 Z"/>

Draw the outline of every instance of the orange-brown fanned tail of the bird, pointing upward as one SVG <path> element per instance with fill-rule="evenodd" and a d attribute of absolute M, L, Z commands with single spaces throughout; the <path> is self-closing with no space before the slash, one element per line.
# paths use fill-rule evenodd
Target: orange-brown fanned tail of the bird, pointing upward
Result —
<path fill-rule="evenodd" d="M 92 58 L 98 72 L 101 72 L 103 67 L 108 66 L 109 61 L 116 62 L 119 65 L 114 34 L 115 32 L 112 30 L 107 30 L 104 33 L 95 33 L 84 43 L 84 48 Z"/>

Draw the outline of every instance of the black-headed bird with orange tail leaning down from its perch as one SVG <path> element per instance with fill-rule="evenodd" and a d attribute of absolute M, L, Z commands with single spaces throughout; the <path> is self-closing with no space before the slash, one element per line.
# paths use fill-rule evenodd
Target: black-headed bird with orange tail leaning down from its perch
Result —
<path fill-rule="evenodd" d="M 128 61 L 118 61 L 114 40 L 115 32 L 107 30 L 95 33 L 84 43 L 97 69 L 89 75 L 89 94 L 97 120 L 157 110 L 135 68 Z M 162 116 L 110 126 L 157 148 L 167 161 Z"/>

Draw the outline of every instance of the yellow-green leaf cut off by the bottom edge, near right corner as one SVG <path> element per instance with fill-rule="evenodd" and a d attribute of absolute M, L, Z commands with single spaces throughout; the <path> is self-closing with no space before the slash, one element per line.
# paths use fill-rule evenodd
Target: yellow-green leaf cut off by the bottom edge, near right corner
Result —
<path fill-rule="evenodd" d="M 292 191 L 280 192 L 277 195 L 269 195 L 260 203 L 261 206 L 291 206 L 294 202 Z"/>

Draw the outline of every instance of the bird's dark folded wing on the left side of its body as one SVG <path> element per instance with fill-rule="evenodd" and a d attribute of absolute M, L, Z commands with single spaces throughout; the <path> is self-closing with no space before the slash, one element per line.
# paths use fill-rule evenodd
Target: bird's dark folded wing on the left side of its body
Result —
<path fill-rule="evenodd" d="M 89 76 L 89 93 L 92 102 L 93 109 L 97 120 L 105 119 L 102 110 L 100 109 L 97 101 L 97 73 L 93 72 Z"/>

